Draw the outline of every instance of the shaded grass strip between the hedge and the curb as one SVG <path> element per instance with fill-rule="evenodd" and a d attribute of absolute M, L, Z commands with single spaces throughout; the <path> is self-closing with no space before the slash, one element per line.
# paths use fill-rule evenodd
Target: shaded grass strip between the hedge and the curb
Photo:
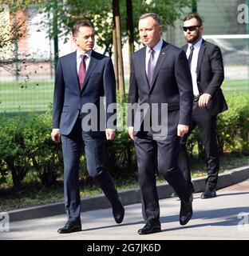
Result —
<path fill-rule="evenodd" d="M 249 157 L 240 154 L 224 154 L 220 157 L 220 172 L 231 170 L 238 166 L 249 164 Z M 191 162 L 192 177 L 200 177 L 207 174 L 204 160 L 193 158 Z M 136 176 L 136 175 L 135 175 Z M 89 186 L 81 181 L 81 198 L 93 194 L 101 194 L 101 190 L 95 186 L 94 182 L 90 182 Z M 157 183 L 165 183 L 164 178 L 160 175 Z M 138 188 L 136 178 L 125 181 L 118 180 L 115 182 L 117 190 Z M 14 191 L 11 186 L 0 186 L 0 211 L 14 210 L 28 206 L 44 205 L 52 202 L 63 202 L 63 182 L 58 180 L 57 184 L 45 187 L 38 182 L 25 183 L 22 189 Z"/>

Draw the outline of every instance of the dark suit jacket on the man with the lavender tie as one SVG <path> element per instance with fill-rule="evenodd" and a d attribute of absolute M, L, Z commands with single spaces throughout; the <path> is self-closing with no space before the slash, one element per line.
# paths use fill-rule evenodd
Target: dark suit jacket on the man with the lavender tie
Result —
<path fill-rule="evenodd" d="M 168 134 L 176 134 L 177 125 L 189 125 L 192 115 L 192 78 L 188 60 L 184 50 L 164 42 L 157 59 L 152 78 L 152 86 L 148 86 L 145 71 L 146 47 L 132 54 L 130 88 L 128 103 L 168 103 Z M 151 112 L 150 112 L 151 114 Z M 137 125 L 138 122 L 138 125 Z M 134 134 L 142 122 L 132 115 L 129 126 L 134 127 Z"/>

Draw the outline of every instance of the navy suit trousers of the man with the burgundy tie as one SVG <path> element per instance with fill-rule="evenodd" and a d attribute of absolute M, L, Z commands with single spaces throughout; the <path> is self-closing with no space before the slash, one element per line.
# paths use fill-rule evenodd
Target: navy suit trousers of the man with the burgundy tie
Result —
<path fill-rule="evenodd" d="M 119 198 L 113 180 L 104 165 L 105 133 L 90 134 L 82 132 L 81 118 L 77 118 L 72 132 L 69 135 L 61 135 L 61 142 L 64 161 L 65 211 L 68 220 L 80 221 L 79 160 L 83 145 L 89 175 L 97 181 L 115 209 Z"/>

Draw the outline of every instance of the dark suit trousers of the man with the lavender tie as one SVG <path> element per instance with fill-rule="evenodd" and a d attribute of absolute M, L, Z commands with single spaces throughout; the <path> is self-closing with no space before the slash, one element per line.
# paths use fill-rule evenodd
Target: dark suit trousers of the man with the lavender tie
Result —
<path fill-rule="evenodd" d="M 163 174 L 180 200 L 188 201 L 191 191 L 183 174 L 177 166 L 180 138 L 168 135 L 163 140 L 156 140 L 152 132 L 139 132 L 134 143 L 141 192 L 144 220 L 160 218 L 160 208 L 156 190 L 156 170 Z"/>

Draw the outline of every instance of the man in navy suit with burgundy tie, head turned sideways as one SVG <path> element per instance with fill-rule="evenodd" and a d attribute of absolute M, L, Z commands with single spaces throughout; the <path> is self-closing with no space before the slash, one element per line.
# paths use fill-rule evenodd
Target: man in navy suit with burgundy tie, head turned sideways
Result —
<path fill-rule="evenodd" d="M 78 172 L 83 144 L 89 175 L 95 178 L 109 199 L 115 221 L 121 223 L 124 218 L 124 207 L 104 166 L 105 137 L 112 140 L 115 136 L 115 123 L 109 122 L 115 113 L 106 114 L 108 126 L 101 122 L 104 110 L 101 97 L 105 96 L 107 108 L 116 102 L 113 63 L 111 58 L 93 50 L 95 32 L 92 22 L 77 22 L 72 33 L 77 50 L 59 58 L 53 95 L 51 137 L 54 142 L 62 142 L 68 217 L 65 226 L 58 230 L 60 234 L 81 230 Z"/>

